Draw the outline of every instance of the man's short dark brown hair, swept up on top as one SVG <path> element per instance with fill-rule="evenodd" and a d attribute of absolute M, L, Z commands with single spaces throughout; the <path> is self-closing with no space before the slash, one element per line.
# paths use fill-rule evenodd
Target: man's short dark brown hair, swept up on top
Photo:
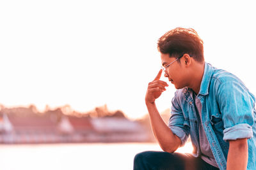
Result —
<path fill-rule="evenodd" d="M 169 53 L 176 59 L 188 53 L 197 62 L 204 61 L 204 42 L 194 29 L 177 27 L 158 39 L 157 48 L 161 53 Z"/>

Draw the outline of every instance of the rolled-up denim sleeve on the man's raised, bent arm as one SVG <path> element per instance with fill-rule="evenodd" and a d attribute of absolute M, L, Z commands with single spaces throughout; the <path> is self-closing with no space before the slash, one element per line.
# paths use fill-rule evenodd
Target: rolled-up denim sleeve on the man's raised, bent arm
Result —
<path fill-rule="evenodd" d="M 173 134 L 178 136 L 181 141 L 181 146 L 184 146 L 189 136 L 189 129 L 184 125 L 184 115 L 177 102 L 177 96 L 172 99 L 172 116 L 168 122 L 168 127 L 172 130 Z"/>

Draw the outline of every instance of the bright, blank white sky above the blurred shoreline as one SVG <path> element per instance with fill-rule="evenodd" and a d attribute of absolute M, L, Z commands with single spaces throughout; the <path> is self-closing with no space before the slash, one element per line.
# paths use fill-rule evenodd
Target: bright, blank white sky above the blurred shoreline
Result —
<path fill-rule="evenodd" d="M 157 39 L 175 27 L 195 29 L 205 60 L 256 94 L 255 17 L 253 1 L 0 1 L 0 103 L 108 104 L 141 117 L 161 66 Z M 174 92 L 170 84 L 159 111 Z"/>

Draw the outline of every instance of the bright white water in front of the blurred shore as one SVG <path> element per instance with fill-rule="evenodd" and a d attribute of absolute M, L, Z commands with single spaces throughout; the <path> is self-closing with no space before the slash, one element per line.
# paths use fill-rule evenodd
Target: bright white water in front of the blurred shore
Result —
<path fill-rule="evenodd" d="M 130 170 L 136 153 L 161 151 L 154 143 L 0 145 L 1 170 Z M 191 144 L 178 152 L 192 152 Z"/>

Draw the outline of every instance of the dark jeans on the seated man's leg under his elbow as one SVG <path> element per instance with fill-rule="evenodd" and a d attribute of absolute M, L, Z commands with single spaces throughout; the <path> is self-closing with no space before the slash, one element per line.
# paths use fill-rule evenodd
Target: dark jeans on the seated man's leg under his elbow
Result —
<path fill-rule="evenodd" d="M 189 153 L 147 151 L 138 153 L 134 157 L 133 169 L 217 170 L 218 168 Z"/>

